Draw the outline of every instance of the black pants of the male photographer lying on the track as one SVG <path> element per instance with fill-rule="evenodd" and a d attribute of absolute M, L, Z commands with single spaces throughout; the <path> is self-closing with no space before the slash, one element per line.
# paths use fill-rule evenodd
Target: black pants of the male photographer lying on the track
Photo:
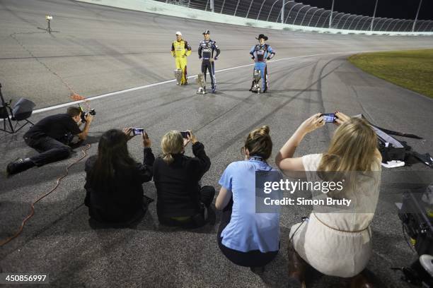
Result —
<path fill-rule="evenodd" d="M 71 148 L 54 138 L 44 136 L 37 139 L 24 138 L 25 144 L 40 152 L 40 154 L 30 157 L 37 167 L 42 165 L 64 160 L 71 155 Z"/>

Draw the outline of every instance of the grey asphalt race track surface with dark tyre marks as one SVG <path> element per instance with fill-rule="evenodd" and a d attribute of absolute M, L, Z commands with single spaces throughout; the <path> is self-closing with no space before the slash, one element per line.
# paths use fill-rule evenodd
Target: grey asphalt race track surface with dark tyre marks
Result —
<path fill-rule="evenodd" d="M 45 27 L 45 13 L 54 16 L 53 29 L 59 32 L 50 35 L 37 29 Z M 156 155 L 164 133 L 191 129 L 212 160 L 202 183 L 219 190 L 219 176 L 230 162 L 242 159 L 241 145 L 253 128 L 270 126 L 273 165 L 277 150 L 304 119 L 335 110 L 362 113 L 383 128 L 415 133 L 424 139 L 406 139 L 408 144 L 418 152 L 433 152 L 433 100 L 370 76 L 346 60 L 360 51 L 431 48 L 432 37 L 260 30 L 66 0 L 0 0 L 0 19 L 4 97 L 26 97 L 37 104 L 36 109 L 71 101 L 58 76 L 85 97 L 173 79 L 169 49 L 176 30 L 192 44 L 188 71 L 195 75 L 200 67 L 196 54 L 201 32 L 211 30 L 221 47 L 217 93 L 197 95 L 190 78 L 190 85 L 183 87 L 161 83 L 93 100 L 97 114 L 87 141 L 88 155 L 96 153 L 98 137 L 109 128 L 145 128 Z M 261 95 L 248 92 L 252 78 L 248 50 L 259 33 L 269 36 L 277 51 L 269 63 L 270 92 Z M 31 120 L 65 109 L 34 114 Z M 334 130 L 327 124 L 309 134 L 296 155 L 322 152 Z M 23 142 L 24 131 L 16 136 L 0 133 L 3 169 L 11 160 L 35 153 Z M 16 232 L 30 212 L 30 203 L 50 191 L 65 167 L 81 157 L 81 149 L 75 151 L 69 160 L 8 179 L 1 174 L 0 239 Z M 129 151 L 142 160 L 138 139 L 130 141 Z M 187 153 L 191 154 L 190 148 Z M 281 252 L 260 277 L 221 254 L 217 224 L 187 231 L 160 226 L 155 203 L 135 228 L 91 229 L 83 205 L 84 161 L 71 167 L 59 188 L 35 205 L 35 216 L 23 233 L 0 248 L 2 272 L 45 272 L 53 287 L 287 287 L 289 229 L 308 215 L 308 208 L 282 209 Z M 374 251 L 367 266 L 381 281 L 380 287 L 408 287 L 390 269 L 410 264 L 414 256 L 393 204 L 408 187 L 408 175 L 432 179 L 432 172 L 420 163 L 383 170 L 381 197 L 371 224 Z M 153 183 L 144 184 L 144 191 L 156 198 Z M 217 212 L 217 221 L 219 217 Z M 336 277 L 314 275 L 308 287 L 340 283 Z"/>

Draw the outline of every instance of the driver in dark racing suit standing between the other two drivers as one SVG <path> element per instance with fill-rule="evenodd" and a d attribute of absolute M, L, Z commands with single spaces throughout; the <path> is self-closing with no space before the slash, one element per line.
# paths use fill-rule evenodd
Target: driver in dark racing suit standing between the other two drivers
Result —
<path fill-rule="evenodd" d="M 220 51 L 217 46 L 217 42 L 211 40 L 209 34 L 210 34 L 209 30 L 203 32 L 204 40 L 202 40 L 199 44 L 198 54 L 199 54 L 199 59 L 203 59 L 202 73 L 204 74 L 204 81 L 206 81 L 206 73 L 209 70 L 209 76 L 211 78 L 211 84 L 212 84 L 212 93 L 214 93 L 215 89 L 217 88 L 216 87 L 217 81 L 215 80 L 214 61 L 218 59 Z M 214 52 L 216 52 L 215 55 Z"/>

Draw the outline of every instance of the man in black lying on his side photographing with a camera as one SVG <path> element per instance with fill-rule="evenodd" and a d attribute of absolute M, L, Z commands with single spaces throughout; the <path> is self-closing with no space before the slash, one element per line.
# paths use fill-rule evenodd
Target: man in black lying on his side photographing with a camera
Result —
<path fill-rule="evenodd" d="M 69 157 L 71 139 L 78 136 L 79 140 L 85 140 L 93 120 L 93 115 L 87 114 L 81 131 L 78 124 L 81 121 L 81 113 L 79 107 L 69 107 L 66 114 L 47 116 L 32 126 L 23 138 L 28 146 L 40 154 L 25 159 L 18 158 L 9 163 L 6 168 L 8 176 Z"/>

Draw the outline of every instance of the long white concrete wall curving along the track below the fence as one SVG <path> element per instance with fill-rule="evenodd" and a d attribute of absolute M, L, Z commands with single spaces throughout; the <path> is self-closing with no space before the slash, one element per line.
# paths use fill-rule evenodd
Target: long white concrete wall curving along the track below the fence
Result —
<path fill-rule="evenodd" d="M 360 31 L 360 30 L 342 30 L 342 29 L 329 29 L 329 28 L 314 28 L 299 25 L 289 25 L 275 22 L 266 22 L 262 20 L 254 20 L 249 18 L 229 16 L 220 13 L 213 13 L 209 11 L 201 11 L 198 9 L 187 8 L 183 6 L 166 4 L 159 1 L 152 0 L 76 0 L 91 4 L 98 4 L 103 6 L 111 6 L 117 8 L 124 8 L 134 11 L 143 11 L 148 13 L 156 13 L 166 16 L 175 16 L 181 18 L 189 18 L 196 20 L 206 20 L 210 22 L 226 23 L 233 25 L 251 26 L 257 28 L 276 29 L 276 30 L 291 30 L 291 31 L 304 31 L 304 32 L 319 32 L 319 33 L 332 33 L 332 34 L 359 34 L 359 35 L 433 35 L 433 32 L 379 32 L 379 31 Z"/>

